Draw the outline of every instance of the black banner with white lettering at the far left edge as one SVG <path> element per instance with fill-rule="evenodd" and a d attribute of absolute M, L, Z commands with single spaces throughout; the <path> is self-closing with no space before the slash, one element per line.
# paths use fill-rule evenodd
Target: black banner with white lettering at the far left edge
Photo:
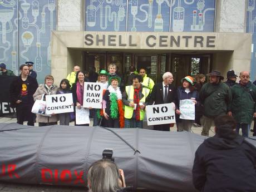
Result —
<path fill-rule="evenodd" d="M 0 116 L 12 117 L 13 109 L 10 107 L 9 86 L 16 76 L 0 76 Z"/>

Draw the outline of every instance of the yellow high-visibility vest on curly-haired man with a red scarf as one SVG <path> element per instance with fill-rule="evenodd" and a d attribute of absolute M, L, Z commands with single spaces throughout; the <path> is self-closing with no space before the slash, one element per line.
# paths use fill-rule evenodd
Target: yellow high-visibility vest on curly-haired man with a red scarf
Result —
<path fill-rule="evenodd" d="M 125 91 L 127 93 L 127 100 L 128 101 L 134 101 L 134 86 L 129 85 L 125 87 Z M 149 95 L 150 90 L 148 88 L 142 87 L 142 95 L 144 95 L 141 99 L 140 102 L 145 104 L 146 97 Z M 134 108 L 130 106 L 125 105 L 125 118 L 126 119 L 131 119 L 132 115 L 134 114 Z M 140 110 L 140 120 L 144 119 L 144 114 L 145 114 L 145 109 Z"/>

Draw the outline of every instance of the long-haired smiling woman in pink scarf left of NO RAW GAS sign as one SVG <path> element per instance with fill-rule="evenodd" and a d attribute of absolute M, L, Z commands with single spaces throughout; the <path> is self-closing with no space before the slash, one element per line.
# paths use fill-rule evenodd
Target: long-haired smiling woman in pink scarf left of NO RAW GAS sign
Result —
<path fill-rule="evenodd" d="M 84 90 L 84 84 L 85 84 L 85 73 L 82 71 L 77 71 L 76 75 L 76 81 L 72 85 L 72 94 L 73 94 L 73 104 L 74 104 L 74 111 L 76 111 L 76 107 L 78 109 L 81 109 L 83 106 L 83 90 Z M 89 126 L 89 124 L 76 124 L 75 120 L 75 125 L 76 126 Z"/>

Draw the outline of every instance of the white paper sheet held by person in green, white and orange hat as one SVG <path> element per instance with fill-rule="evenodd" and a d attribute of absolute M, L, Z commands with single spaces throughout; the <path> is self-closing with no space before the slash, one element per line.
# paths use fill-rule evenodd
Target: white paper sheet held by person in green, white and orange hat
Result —
<path fill-rule="evenodd" d="M 180 100 L 180 119 L 195 120 L 195 103 L 193 100 Z"/>

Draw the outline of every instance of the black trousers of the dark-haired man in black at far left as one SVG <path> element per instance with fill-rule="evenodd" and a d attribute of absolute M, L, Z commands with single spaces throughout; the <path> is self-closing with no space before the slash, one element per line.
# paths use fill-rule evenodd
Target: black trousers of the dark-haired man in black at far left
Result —
<path fill-rule="evenodd" d="M 31 110 L 32 104 L 18 104 L 16 107 L 17 124 L 23 125 L 24 121 L 28 121 L 28 125 L 34 126 L 34 114 Z"/>

